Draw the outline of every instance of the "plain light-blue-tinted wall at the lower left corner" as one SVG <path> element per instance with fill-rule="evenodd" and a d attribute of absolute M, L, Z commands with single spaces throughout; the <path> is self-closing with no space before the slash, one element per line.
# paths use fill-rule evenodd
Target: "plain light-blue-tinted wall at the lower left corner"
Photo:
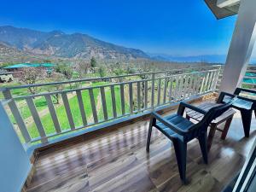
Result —
<path fill-rule="evenodd" d="M 19 191 L 31 163 L 0 102 L 0 191 Z"/>

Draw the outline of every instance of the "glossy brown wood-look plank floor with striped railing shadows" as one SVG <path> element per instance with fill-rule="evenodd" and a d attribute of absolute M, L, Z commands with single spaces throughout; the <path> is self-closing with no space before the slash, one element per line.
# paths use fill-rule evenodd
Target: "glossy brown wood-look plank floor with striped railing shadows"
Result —
<path fill-rule="evenodd" d="M 256 137 L 245 138 L 236 113 L 225 141 L 216 134 L 205 165 L 197 141 L 188 145 L 187 177 L 182 185 L 172 143 L 154 129 L 150 153 L 145 150 L 148 121 L 88 141 L 41 154 L 36 163 L 32 191 L 221 191 L 241 169 Z"/>

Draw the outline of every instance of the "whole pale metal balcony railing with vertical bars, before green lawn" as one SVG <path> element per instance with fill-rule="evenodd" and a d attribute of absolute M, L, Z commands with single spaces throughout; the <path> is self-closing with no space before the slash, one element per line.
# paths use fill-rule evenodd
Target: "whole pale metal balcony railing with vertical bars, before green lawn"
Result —
<path fill-rule="evenodd" d="M 131 117 L 133 114 L 143 114 L 172 102 L 214 91 L 220 70 L 219 66 L 197 67 L 13 86 L 1 89 L 4 96 L 2 104 L 22 143 L 48 143 L 52 138 L 69 132 Z M 13 93 L 19 89 L 57 87 L 65 84 L 70 86 L 62 90 L 25 96 L 16 96 Z M 59 95 L 61 103 L 54 104 L 55 96 Z M 46 103 L 44 109 L 35 104 L 38 100 Z M 20 112 L 20 103 L 25 106 L 26 113 Z"/>

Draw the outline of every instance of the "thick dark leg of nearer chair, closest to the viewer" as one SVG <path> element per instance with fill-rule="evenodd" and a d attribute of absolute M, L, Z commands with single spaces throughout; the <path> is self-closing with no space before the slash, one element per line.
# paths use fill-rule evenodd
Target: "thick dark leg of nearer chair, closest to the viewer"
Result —
<path fill-rule="evenodd" d="M 180 140 L 173 139 L 173 146 L 177 158 L 177 166 L 179 176 L 182 182 L 186 183 L 186 165 L 187 165 L 187 143 L 183 143 Z"/>

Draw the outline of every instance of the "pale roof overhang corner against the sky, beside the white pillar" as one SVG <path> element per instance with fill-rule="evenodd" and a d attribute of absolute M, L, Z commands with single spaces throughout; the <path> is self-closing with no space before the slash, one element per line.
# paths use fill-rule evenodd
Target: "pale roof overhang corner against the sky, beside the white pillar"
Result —
<path fill-rule="evenodd" d="M 236 15 L 240 5 L 240 3 L 235 3 L 229 6 L 225 6 L 224 8 L 219 8 L 217 6 L 218 0 L 205 0 L 205 2 L 207 3 L 209 9 L 212 10 L 212 14 L 215 15 L 218 20 L 229 17 L 231 15 Z"/>

